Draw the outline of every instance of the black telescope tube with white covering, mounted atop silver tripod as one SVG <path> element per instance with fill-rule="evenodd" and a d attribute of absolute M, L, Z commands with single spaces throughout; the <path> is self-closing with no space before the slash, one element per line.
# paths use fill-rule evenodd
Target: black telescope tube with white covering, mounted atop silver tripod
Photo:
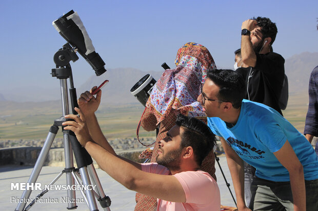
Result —
<path fill-rule="evenodd" d="M 106 72 L 105 62 L 95 52 L 81 18 L 77 12 L 69 11 L 52 22 L 57 32 L 93 67 L 96 76 Z"/>

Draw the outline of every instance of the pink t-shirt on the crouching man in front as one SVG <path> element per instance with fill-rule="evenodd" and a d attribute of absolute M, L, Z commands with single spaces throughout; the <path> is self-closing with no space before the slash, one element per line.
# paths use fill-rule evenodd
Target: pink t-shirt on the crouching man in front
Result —
<path fill-rule="evenodd" d="M 170 175 L 170 171 L 157 163 L 142 165 L 145 172 Z M 216 181 L 207 172 L 188 171 L 173 175 L 182 185 L 186 202 L 170 202 L 157 199 L 157 211 L 218 211 L 221 207 L 220 190 Z"/>

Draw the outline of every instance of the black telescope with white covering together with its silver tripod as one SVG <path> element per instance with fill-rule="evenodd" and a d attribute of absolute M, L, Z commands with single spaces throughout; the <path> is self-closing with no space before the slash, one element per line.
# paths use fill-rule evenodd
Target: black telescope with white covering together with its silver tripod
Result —
<path fill-rule="evenodd" d="M 53 21 L 53 26 L 58 33 L 67 40 L 67 43 L 63 45 L 63 48 L 59 49 L 53 57 L 56 68 L 52 69 L 52 77 L 56 77 L 60 81 L 59 90 L 61 91 L 62 99 L 62 112 L 63 115 L 54 120 L 53 125 L 50 127 L 49 133 L 43 145 L 41 152 L 39 153 L 32 173 L 29 177 L 28 184 L 33 186 L 36 182 L 44 162 L 48 156 L 49 150 L 52 146 L 54 138 L 58 132 L 59 127 L 62 127 L 63 141 L 64 141 L 64 157 L 65 157 L 65 169 L 62 170 L 49 185 L 53 185 L 56 180 L 63 174 L 66 174 L 66 185 L 68 187 L 77 185 L 95 185 L 95 190 L 79 190 L 83 196 L 84 201 L 89 207 L 90 211 L 98 211 L 97 201 L 100 202 L 101 207 L 104 210 L 110 211 L 111 200 L 105 195 L 100 179 L 98 178 L 95 168 L 93 166 L 93 160 L 84 147 L 79 144 L 75 134 L 72 131 L 64 130 L 63 123 L 68 121 L 65 119 L 65 115 L 69 114 L 69 98 L 67 91 L 67 79 L 70 84 L 70 100 L 73 114 L 77 114 L 74 107 L 77 105 L 76 89 L 73 83 L 72 68 L 70 61 L 75 62 L 78 59 L 76 52 L 81 54 L 85 60 L 93 67 L 97 76 L 106 72 L 104 68 L 105 62 L 100 55 L 95 52 L 91 39 L 89 38 L 83 22 L 79 18 L 76 12 L 71 10 L 62 17 Z M 71 46 L 72 45 L 72 46 Z M 73 156 L 76 160 L 77 168 L 74 167 Z M 21 201 L 18 203 L 15 211 L 27 211 L 29 210 L 41 197 L 44 196 L 49 189 L 43 190 L 38 194 L 30 203 L 28 202 L 32 190 L 25 190 L 21 196 Z M 75 190 L 67 189 L 67 209 L 76 209 L 77 200 Z M 26 206 L 26 204 L 29 203 Z"/>

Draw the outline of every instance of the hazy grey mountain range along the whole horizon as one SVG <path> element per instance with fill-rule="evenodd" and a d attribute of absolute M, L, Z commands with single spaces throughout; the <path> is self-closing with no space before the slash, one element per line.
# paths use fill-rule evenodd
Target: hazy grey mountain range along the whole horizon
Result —
<path fill-rule="evenodd" d="M 285 73 L 289 82 L 289 93 L 305 93 L 308 91 L 309 76 L 312 69 L 318 65 L 318 53 L 304 52 L 294 55 L 285 60 Z M 222 67 L 219 67 L 222 68 Z M 102 89 L 102 103 L 107 104 L 127 104 L 138 103 L 135 97 L 130 93 L 132 86 L 143 78 L 146 74 L 150 74 L 155 80 L 160 78 L 164 72 L 143 72 L 134 68 L 113 68 L 108 69 L 100 77 L 91 76 L 88 80 L 77 88 L 77 97 L 85 90 L 89 90 L 95 85 L 101 84 L 105 79 L 109 80 L 109 83 Z M 104 76 L 105 75 L 105 76 Z M 38 90 L 36 98 L 33 96 L 32 91 Z M 48 93 L 52 93 L 48 95 Z M 3 105 L 8 105 L 9 102 L 38 102 L 40 101 L 59 101 L 60 93 L 54 92 L 50 88 L 38 88 L 36 86 L 25 87 L 23 90 L 14 92 L 11 95 L 5 95 L 0 93 L 0 102 Z M 32 104 L 32 103 L 31 103 Z"/>

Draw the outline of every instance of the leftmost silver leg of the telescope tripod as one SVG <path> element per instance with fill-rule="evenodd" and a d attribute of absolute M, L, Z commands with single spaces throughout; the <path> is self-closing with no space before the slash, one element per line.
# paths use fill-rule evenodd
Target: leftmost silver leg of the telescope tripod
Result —
<path fill-rule="evenodd" d="M 33 171 L 30 175 L 30 178 L 28 180 L 28 184 L 32 185 L 36 182 L 37 177 L 39 175 L 39 173 L 42 170 L 42 167 L 44 165 L 44 161 L 48 156 L 49 150 L 52 146 L 53 140 L 55 138 L 55 135 L 58 131 L 58 127 L 56 126 L 51 126 L 50 128 L 50 132 L 48 133 L 48 136 L 46 137 L 45 143 L 42 147 L 41 152 L 38 155 L 38 158 L 35 162 Z M 15 211 L 22 211 L 24 209 L 24 207 L 26 206 L 27 203 L 27 199 L 29 199 L 30 195 L 31 195 L 32 189 L 31 190 L 25 190 L 21 196 L 21 200 L 18 203 Z"/>

